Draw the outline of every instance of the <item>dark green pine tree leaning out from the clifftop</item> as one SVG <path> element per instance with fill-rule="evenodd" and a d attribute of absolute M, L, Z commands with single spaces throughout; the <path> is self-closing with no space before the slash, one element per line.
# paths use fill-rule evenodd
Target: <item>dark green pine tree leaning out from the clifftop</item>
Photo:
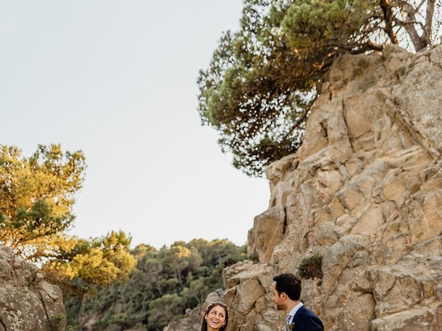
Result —
<path fill-rule="evenodd" d="M 249 175 L 296 152 L 317 85 L 344 53 L 440 41 L 442 0 L 244 0 L 198 77 L 202 123 Z"/>

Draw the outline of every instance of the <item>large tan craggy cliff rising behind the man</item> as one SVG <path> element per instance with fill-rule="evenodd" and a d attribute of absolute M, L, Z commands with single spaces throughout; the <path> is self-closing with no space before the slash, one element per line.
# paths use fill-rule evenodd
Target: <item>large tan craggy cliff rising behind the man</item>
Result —
<path fill-rule="evenodd" d="M 223 272 L 229 330 L 284 330 L 271 280 L 313 254 L 301 299 L 326 330 L 442 330 L 441 154 L 441 46 L 336 60 L 301 148 L 267 168 L 259 262 Z"/>

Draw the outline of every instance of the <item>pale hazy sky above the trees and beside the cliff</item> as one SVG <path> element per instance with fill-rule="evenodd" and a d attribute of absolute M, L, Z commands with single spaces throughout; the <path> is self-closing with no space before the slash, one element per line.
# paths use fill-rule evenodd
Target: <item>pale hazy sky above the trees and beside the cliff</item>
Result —
<path fill-rule="evenodd" d="M 269 202 L 198 114 L 200 69 L 240 0 L 0 0 L 0 144 L 82 150 L 70 234 L 131 234 L 156 248 L 242 245 Z"/>

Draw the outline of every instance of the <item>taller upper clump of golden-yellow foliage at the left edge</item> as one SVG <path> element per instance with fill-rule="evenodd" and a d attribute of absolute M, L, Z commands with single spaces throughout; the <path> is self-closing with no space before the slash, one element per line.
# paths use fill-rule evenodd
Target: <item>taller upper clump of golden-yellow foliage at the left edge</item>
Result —
<path fill-rule="evenodd" d="M 30 259 L 49 254 L 39 248 L 74 221 L 85 169 L 81 151 L 63 153 L 59 145 L 40 145 L 28 158 L 0 146 L 0 243 Z"/>

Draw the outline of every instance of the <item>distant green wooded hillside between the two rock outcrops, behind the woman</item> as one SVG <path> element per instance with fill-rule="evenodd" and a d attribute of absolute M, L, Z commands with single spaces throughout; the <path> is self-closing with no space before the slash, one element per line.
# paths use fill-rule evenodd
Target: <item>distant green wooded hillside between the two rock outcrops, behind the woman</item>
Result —
<path fill-rule="evenodd" d="M 71 330 L 85 330 L 95 319 L 93 330 L 160 331 L 222 288 L 222 268 L 247 257 L 245 246 L 226 239 L 178 241 L 160 250 L 138 245 L 131 254 L 137 265 L 126 281 L 65 297 Z"/>

